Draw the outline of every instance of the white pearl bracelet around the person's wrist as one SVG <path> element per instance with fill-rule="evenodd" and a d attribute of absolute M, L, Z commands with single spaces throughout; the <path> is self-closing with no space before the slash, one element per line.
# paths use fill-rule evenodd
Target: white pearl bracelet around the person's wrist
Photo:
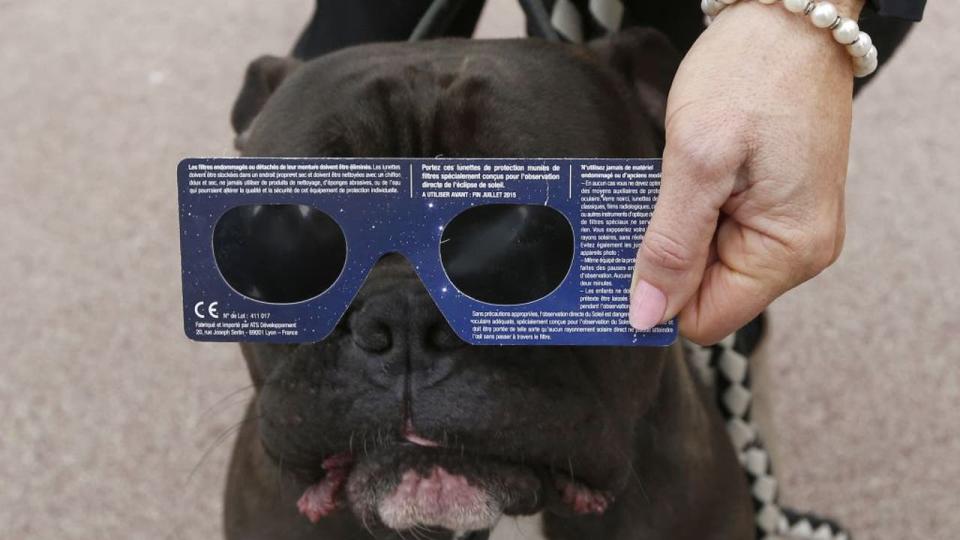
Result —
<path fill-rule="evenodd" d="M 773 4 L 781 0 L 760 0 L 763 4 Z M 814 0 L 782 0 L 783 6 L 793 13 L 802 13 L 810 16 L 810 21 L 817 28 L 829 29 L 833 39 L 845 46 L 853 57 L 853 74 L 856 77 L 866 77 L 877 70 L 877 48 L 866 32 L 860 31 L 857 21 L 842 17 L 837 6 L 830 2 L 816 2 Z M 701 0 L 700 8 L 708 17 L 716 17 L 724 8 L 736 3 L 737 0 Z"/>

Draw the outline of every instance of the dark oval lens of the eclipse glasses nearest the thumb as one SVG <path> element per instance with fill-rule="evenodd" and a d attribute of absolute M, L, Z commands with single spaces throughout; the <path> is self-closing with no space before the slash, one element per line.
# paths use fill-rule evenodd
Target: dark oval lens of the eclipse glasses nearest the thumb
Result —
<path fill-rule="evenodd" d="M 450 281 L 467 296 L 525 304 L 563 282 L 573 262 L 573 229 L 547 206 L 477 206 L 444 228 L 440 258 Z"/>

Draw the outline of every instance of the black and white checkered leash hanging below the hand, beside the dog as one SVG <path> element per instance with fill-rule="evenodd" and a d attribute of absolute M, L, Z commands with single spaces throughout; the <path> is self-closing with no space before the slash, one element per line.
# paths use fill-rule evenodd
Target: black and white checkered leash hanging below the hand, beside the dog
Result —
<path fill-rule="evenodd" d="M 852 540 L 850 533 L 836 522 L 785 508 L 779 502 L 770 453 L 764 447 L 751 415 L 753 393 L 748 356 L 762 333 L 763 319 L 759 318 L 711 347 L 684 342 L 694 370 L 714 391 L 730 441 L 747 475 L 756 512 L 757 539 Z"/>

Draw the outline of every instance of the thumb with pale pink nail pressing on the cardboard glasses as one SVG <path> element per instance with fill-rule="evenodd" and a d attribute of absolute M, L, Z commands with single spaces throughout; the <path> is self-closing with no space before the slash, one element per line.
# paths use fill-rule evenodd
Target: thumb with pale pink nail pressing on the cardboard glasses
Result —
<path fill-rule="evenodd" d="M 678 157 L 685 155 L 685 157 Z M 657 204 L 637 251 L 630 286 L 630 324 L 649 330 L 673 318 L 700 286 L 720 208 L 732 189 L 727 167 L 704 165 L 690 153 L 663 157 Z"/>

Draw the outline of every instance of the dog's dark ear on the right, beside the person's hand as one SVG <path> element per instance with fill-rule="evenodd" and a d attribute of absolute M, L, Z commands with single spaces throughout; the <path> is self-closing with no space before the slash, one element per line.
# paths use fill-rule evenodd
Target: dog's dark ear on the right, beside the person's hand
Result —
<path fill-rule="evenodd" d="M 589 47 L 624 78 L 662 133 L 667 95 L 681 60 L 670 39 L 654 28 L 634 27 L 591 41 Z"/>

